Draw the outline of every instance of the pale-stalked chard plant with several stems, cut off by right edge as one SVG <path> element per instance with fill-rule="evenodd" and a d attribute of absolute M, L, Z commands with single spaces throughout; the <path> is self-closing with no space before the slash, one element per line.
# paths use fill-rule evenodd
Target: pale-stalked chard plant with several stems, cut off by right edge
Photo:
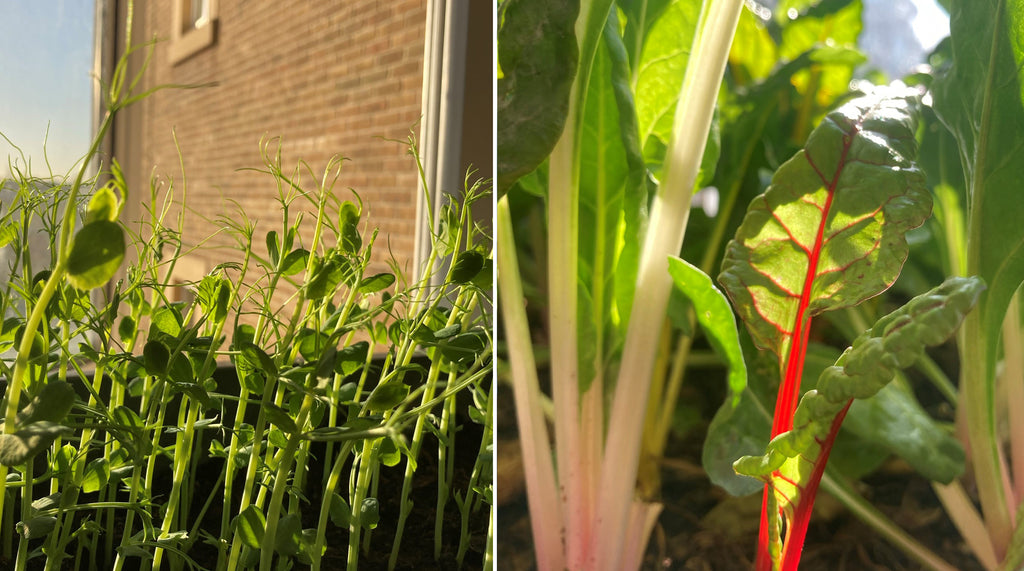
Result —
<path fill-rule="evenodd" d="M 936 482 L 946 512 L 989 570 L 1024 564 L 1024 4 L 948 3 L 950 38 L 931 85 L 941 125 L 931 164 L 942 199 L 936 235 L 945 271 L 988 284 L 957 338 L 962 369 L 957 436 L 968 451 L 963 480 Z M 945 150 L 945 151 L 944 151 Z M 976 507 L 980 506 L 980 511 Z"/>

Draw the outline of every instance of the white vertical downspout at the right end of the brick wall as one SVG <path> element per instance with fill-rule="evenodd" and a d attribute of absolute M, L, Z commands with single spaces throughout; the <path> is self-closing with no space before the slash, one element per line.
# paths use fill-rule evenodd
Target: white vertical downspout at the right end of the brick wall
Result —
<path fill-rule="evenodd" d="M 469 2 L 428 0 L 423 48 L 423 94 L 420 124 L 420 159 L 427 189 L 420 181 L 416 199 L 416 252 L 414 268 L 420 277 L 430 254 L 427 209 L 437 215 L 443 192 L 461 184 L 462 111 L 466 84 L 466 36 Z M 442 276 L 435 275 L 431 282 Z"/>

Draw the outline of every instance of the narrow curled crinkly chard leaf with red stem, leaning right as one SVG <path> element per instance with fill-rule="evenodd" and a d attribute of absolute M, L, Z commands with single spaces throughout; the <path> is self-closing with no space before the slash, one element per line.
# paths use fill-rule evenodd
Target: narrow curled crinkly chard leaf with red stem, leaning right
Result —
<path fill-rule="evenodd" d="M 817 389 L 804 395 L 792 430 L 773 438 L 764 455 L 736 460 L 737 474 L 769 485 L 768 514 L 785 519 L 786 541 L 803 544 L 828 452 L 853 399 L 873 396 L 896 370 L 912 365 L 926 347 L 948 339 L 984 288 L 978 277 L 951 277 L 880 319 L 821 374 Z M 781 521 L 770 518 L 769 525 L 768 536 L 776 542 L 772 553 L 778 554 Z"/>

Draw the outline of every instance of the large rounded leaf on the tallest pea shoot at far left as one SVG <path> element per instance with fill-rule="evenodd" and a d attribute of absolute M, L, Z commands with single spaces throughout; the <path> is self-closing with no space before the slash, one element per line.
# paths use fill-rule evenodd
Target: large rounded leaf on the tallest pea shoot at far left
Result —
<path fill-rule="evenodd" d="M 125 235 L 115 222 L 96 220 L 80 229 L 68 254 L 68 279 L 79 290 L 106 283 L 125 257 Z"/>

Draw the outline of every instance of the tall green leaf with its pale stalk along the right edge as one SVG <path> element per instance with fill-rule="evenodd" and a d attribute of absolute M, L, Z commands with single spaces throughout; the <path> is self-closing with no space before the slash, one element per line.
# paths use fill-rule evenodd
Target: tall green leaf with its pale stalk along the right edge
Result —
<path fill-rule="evenodd" d="M 974 476 L 996 552 L 1014 522 L 999 442 L 1000 327 L 1024 282 L 1024 2 L 950 2 L 952 64 L 933 85 L 935 112 L 958 143 L 968 196 L 966 273 L 988 292 L 964 325 L 963 398 Z M 1011 403 L 1010 406 L 1019 406 Z M 1020 527 L 1020 526 L 1018 526 Z"/>

